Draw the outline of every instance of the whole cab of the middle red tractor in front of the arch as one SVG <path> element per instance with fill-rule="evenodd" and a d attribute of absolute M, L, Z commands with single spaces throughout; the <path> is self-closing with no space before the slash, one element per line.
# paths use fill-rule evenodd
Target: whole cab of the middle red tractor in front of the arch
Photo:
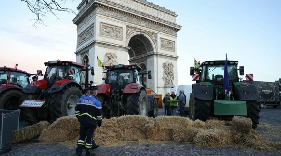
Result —
<path fill-rule="evenodd" d="M 124 88 L 129 83 L 140 84 L 139 72 L 141 67 L 138 65 L 113 65 L 106 66 L 105 83 L 116 88 Z"/>

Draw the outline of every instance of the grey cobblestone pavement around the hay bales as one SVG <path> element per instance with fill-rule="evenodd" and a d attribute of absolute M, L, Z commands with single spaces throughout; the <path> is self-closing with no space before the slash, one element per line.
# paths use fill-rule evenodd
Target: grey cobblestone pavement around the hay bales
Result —
<path fill-rule="evenodd" d="M 267 135 L 266 127 L 262 125 L 270 125 L 281 127 L 281 108 L 264 108 L 260 112 L 260 124 L 261 126 L 257 129 L 259 134 Z M 163 115 L 164 110 L 159 109 L 159 115 Z M 280 133 L 280 129 L 275 129 L 276 133 Z M 265 139 L 271 141 L 281 141 L 281 138 L 277 136 L 267 136 Z M 227 146 L 220 148 L 198 148 L 193 143 L 178 143 L 178 142 L 161 142 L 161 143 L 139 143 L 139 142 L 126 142 L 125 145 L 120 146 L 101 146 L 95 149 L 96 155 L 111 156 L 111 155 L 155 155 L 155 156 L 170 156 L 170 155 L 281 155 L 281 149 L 275 152 L 264 152 L 260 150 L 254 150 L 239 146 Z M 85 152 L 84 152 L 85 153 Z M 84 155 L 84 153 L 82 155 Z M 38 142 L 27 142 L 21 144 L 12 145 L 12 151 L 1 156 L 75 156 L 75 147 L 67 147 L 66 145 L 55 143 L 55 144 L 43 144 Z"/>

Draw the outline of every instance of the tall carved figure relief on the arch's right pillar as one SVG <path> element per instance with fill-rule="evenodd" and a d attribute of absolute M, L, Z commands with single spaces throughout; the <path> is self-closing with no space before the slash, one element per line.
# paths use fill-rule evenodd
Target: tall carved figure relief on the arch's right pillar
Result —
<path fill-rule="evenodd" d="M 174 65 L 172 62 L 163 63 L 163 81 L 165 85 L 174 85 Z"/>

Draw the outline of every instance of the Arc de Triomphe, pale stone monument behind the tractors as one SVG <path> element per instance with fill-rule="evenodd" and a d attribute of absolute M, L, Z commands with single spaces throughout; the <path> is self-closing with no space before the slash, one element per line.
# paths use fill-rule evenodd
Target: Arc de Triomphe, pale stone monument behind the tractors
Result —
<path fill-rule="evenodd" d="M 145 0 L 82 0 L 73 19 L 77 25 L 76 61 L 84 58 L 95 68 L 94 84 L 104 83 L 105 64 L 138 63 L 152 71 L 148 88 L 164 94 L 177 86 L 177 32 L 175 12 Z"/>

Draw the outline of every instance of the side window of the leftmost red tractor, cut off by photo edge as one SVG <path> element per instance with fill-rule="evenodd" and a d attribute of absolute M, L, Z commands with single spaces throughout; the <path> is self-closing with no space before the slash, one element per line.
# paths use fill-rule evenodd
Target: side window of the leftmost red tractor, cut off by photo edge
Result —
<path fill-rule="evenodd" d="M 29 76 L 25 73 L 11 71 L 9 82 L 11 84 L 20 85 L 24 88 L 29 84 Z"/>

